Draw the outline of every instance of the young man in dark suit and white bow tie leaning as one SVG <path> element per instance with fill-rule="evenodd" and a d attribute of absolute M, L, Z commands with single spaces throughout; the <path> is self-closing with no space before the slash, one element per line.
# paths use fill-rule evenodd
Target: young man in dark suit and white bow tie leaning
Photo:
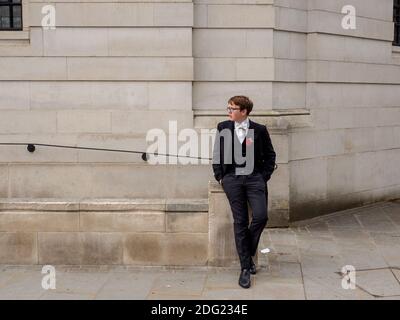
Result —
<path fill-rule="evenodd" d="M 266 126 L 249 119 L 253 102 L 245 96 L 228 101 L 229 120 L 218 123 L 213 151 L 215 179 L 229 200 L 241 273 L 239 285 L 249 288 L 256 273 L 252 257 L 267 221 L 267 181 L 275 169 L 276 154 Z M 249 226 L 247 202 L 253 216 Z"/>

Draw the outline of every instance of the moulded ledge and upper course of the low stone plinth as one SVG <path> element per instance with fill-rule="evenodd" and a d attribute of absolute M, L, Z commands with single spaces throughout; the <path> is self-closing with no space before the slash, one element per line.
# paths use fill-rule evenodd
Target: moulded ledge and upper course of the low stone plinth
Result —
<path fill-rule="evenodd" d="M 207 233 L 208 199 L 2 199 L 0 232 Z"/>

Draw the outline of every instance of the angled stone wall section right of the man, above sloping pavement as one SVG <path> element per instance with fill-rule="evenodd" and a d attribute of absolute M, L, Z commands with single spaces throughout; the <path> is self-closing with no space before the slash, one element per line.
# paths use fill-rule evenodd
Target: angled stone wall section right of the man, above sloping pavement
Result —
<path fill-rule="evenodd" d="M 346 1 L 277 3 L 290 10 L 291 21 L 303 21 L 301 28 L 281 24 L 277 35 L 291 39 L 281 52 L 292 53 L 294 72 L 301 65 L 302 101 L 313 119 L 312 127 L 290 133 L 291 219 L 399 197 L 400 50 L 392 46 L 393 1 L 352 1 L 355 30 L 341 27 Z"/>

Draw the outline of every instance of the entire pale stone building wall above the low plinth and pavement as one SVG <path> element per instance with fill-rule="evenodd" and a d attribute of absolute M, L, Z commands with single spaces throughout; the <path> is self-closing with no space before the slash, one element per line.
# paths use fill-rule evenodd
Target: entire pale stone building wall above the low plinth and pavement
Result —
<path fill-rule="evenodd" d="M 144 150 L 151 128 L 215 128 L 249 95 L 270 130 L 278 225 L 399 197 L 391 0 L 24 1 L 0 32 L 0 142 Z M 44 4 L 56 29 L 41 28 Z M 1 198 L 201 198 L 210 164 L 1 146 Z"/>

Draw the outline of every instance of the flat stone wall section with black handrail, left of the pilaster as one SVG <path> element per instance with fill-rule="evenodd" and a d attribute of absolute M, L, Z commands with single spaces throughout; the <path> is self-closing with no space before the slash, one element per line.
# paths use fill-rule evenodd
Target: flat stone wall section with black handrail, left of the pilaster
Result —
<path fill-rule="evenodd" d="M 56 8 L 55 30 L 41 27 L 47 4 Z M 24 31 L 0 32 L 0 142 L 145 151 L 149 129 L 168 133 L 169 120 L 193 128 L 192 1 L 24 5 Z M 0 148 L 3 198 L 207 198 L 208 165 Z"/>

